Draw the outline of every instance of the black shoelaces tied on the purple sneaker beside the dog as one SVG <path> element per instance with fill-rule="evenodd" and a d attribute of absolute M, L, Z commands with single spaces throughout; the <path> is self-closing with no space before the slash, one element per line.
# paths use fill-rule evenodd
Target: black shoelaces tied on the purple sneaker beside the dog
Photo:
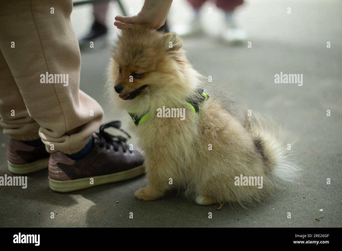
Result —
<path fill-rule="evenodd" d="M 101 139 L 102 145 L 101 147 L 104 147 L 104 145 L 106 145 L 107 149 L 110 149 L 110 145 L 114 146 L 114 150 L 118 151 L 119 150 L 119 145 L 122 146 L 123 148 L 123 152 L 125 153 L 127 150 L 132 153 L 131 150 L 129 150 L 127 144 L 126 144 L 126 138 L 122 137 L 122 136 L 117 136 L 117 135 L 111 135 L 107 132 L 104 131 L 104 129 L 108 128 L 108 127 L 114 127 L 120 131 L 122 131 L 124 134 L 126 134 L 128 136 L 128 138 L 131 138 L 131 136 L 124 130 L 122 130 L 121 127 L 121 121 L 116 120 L 116 121 L 112 121 L 109 122 L 107 124 L 103 124 L 100 126 L 100 133 L 97 133 L 97 136 L 99 136 L 99 138 Z"/>

